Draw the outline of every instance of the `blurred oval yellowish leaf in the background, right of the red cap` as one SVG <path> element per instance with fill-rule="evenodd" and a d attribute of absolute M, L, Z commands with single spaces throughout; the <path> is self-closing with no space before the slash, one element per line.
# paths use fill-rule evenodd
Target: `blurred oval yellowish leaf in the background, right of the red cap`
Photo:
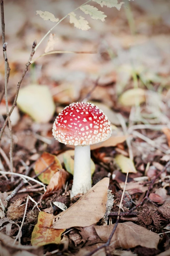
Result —
<path fill-rule="evenodd" d="M 125 91 L 119 97 L 119 102 L 123 106 L 132 107 L 136 104 L 145 102 L 145 90 L 141 88 L 134 88 Z"/>

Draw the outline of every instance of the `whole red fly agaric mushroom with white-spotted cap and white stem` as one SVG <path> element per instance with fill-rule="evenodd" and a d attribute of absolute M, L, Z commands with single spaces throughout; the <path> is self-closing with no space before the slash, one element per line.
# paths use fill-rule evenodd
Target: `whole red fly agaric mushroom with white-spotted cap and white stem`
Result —
<path fill-rule="evenodd" d="M 71 197 L 86 193 L 92 187 L 90 145 L 112 133 L 107 116 L 92 103 L 72 103 L 59 113 L 52 132 L 59 142 L 75 146 Z"/>

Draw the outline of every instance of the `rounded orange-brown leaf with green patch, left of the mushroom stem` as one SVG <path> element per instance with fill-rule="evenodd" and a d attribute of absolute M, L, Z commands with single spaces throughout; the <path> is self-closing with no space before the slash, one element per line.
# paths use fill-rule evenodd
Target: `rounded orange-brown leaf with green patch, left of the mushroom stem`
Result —
<path fill-rule="evenodd" d="M 48 152 L 44 152 L 35 163 L 34 170 L 35 173 L 38 174 L 47 168 L 52 162 L 54 163 L 44 173 L 38 176 L 38 179 L 45 184 L 49 184 L 50 179 L 56 172 L 58 172 L 58 169 L 62 169 L 62 165 L 56 156 Z"/>

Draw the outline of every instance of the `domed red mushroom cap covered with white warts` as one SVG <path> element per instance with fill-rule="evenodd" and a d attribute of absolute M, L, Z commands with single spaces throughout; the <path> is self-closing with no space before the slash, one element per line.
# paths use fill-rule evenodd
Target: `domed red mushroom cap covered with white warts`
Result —
<path fill-rule="evenodd" d="M 107 140 L 112 133 L 110 121 L 97 106 L 89 102 L 72 103 L 55 119 L 52 134 L 69 145 L 92 145 Z"/>

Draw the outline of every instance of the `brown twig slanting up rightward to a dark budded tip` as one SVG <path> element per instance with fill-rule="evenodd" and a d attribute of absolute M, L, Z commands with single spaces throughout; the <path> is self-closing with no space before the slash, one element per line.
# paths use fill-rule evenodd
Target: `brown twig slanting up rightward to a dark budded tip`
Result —
<path fill-rule="evenodd" d="M 28 60 L 28 63 L 25 65 L 25 69 L 24 69 L 24 71 L 23 71 L 23 73 L 22 73 L 21 79 L 20 79 L 20 81 L 18 82 L 17 91 L 16 91 L 15 99 L 14 99 L 14 103 L 13 103 L 13 105 L 12 105 L 11 110 L 9 111 L 9 116 L 11 115 L 11 113 L 12 113 L 12 111 L 14 110 L 15 106 L 17 105 L 17 98 L 18 98 L 18 94 L 19 94 L 19 90 L 20 90 L 20 85 L 21 85 L 21 82 L 22 82 L 22 80 L 23 80 L 25 74 L 26 74 L 27 71 L 28 71 L 28 67 L 29 67 L 30 64 L 31 64 L 30 61 L 32 60 L 33 55 L 34 55 L 34 53 L 35 53 L 35 46 L 36 46 L 36 40 L 34 41 L 34 43 L 33 43 L 33 45 L 32 45 L 32 51 L 31 51 L 31 54 L 30 54 L 30 58 L 29 58 L 29 60 Z M 2 135 L 3 135 L 3 133 L 4 133 L 4 130 L 5 130 L 6 126 L 7 126 L 7 118 L 6 118 L 6 120 L 5 120 L 5 123 L 4 123 L 3 127 L 2 127 L 2 129 L 1 129 L 0 140 L 1 140 L 1 138 L 2 138 Z"/>

